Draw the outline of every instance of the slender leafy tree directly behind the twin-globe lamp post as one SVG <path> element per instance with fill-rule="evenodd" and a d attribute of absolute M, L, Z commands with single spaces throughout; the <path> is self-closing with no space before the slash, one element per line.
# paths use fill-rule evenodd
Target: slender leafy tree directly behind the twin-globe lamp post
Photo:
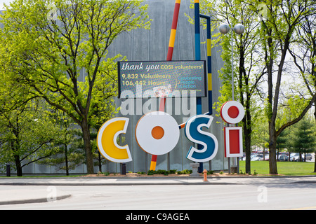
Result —
<path fill-rule="evenodd" d="M 244 106 L 245 116 L 242 120 L 244 132 L 244 147 L 246 152 L 246 172 L 251 172 L 251 135 L 253 132 L 254 119 L 256 116 L 255 109 L 258 108 L 256 103 L 256 94 L 265 74 L 265 66 L 262 64 L 263 55 L 260 52 L 260 46 L 257 44 L 258 27 L 260 20 L 257 13 L 252 10 L 248 1 L 223 1 L 220 3 L 222 10 L 218 10 L 219 18 L 223 18 L 223 22 L 234 27 L 237 23 L 242 23 L 245 31 L 242 35 L 234 36 L 234 61 L 236 68 L 234 69 L 234 89 L 236 98 Z M 239 13 L 242 12 L 242 13 Z M 226 35 L 222 42 L 223 53 L 222 58 L 225 62 L 225 68 L 220 71 L 220 78 L 223 80 L 221 88 L 222 102 L 227 101 L 227 97 L 232 94 L 231 90 L 231 43 L 230 35 Z M 223 100 L 224 99 L 224 100 Z"/>

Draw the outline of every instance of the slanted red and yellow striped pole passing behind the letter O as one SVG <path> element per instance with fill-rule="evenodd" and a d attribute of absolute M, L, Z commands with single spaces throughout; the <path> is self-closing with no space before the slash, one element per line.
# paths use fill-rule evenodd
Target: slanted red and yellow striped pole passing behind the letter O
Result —
<path fill-rule="evenodd" d="M 180 2 L 181 0 L 176 0 L 175 6 L 174 6 L 170 39 L 169 39 L 169 47 L 168 47 L 168 53 L 167 53 L 167 59 L 166 59 L 167 61 L 171 61 L 172 55 L 173 55 L 173 47 L 174 47 L 174 41 L 176 40 L 176 30 L 177 30 L 177 25 L 178 25 Z M 159 103 L 159 111 L 164 111 L 165 103 L 166 103 L 166 98 L 161 98 L 160 103 Z M 157 164 L 157 155 L 152 155 L 152 160 L 150 162 L 150 170 L 155 170 L 156 164 Z"/>

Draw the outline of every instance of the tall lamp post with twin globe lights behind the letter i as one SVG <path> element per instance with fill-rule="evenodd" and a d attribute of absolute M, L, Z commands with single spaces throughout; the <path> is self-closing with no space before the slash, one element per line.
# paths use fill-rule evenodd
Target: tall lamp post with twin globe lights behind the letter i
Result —
<path fill-rule="evenodd" d="M 218 30 L 220 31 L 221 34 L 227 34 L 230 29 L 234 30 L 236 34 L 241 35 L 244 32 L 244 25 L 242 24 L 237 24 L 235 25 L 234 28 L 230 28 L 228 24 L 222 24 L 218 27 Z M 231 45 L 233 44 L 232 40 L 232 31 L 231 31 Z M 232 100 L 234 99 L 234 51 L 233 51 L 233 45 L 232 45 Z M 236 165 L 239 163 L 239 158 L 235 158 L 233 160 L 233 165 Z M 237 165 L 237 173 L 239 173 L 239 165 Z M 230 172 L 230 158 L 228 159 L 228 170 Z"/>

